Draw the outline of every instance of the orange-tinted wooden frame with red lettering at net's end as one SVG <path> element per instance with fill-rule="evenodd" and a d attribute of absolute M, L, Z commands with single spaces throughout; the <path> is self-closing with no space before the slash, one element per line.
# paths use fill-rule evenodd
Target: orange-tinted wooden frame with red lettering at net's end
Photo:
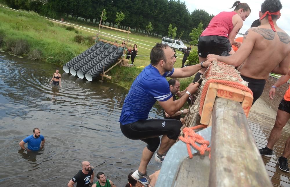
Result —
<path fill-rule="evenodd" d="M 244 113 L 248 117 L 253 102 L 253 96 L 249 92 L 220 83 L 209 83 L 209 88 L 206 92 L 204 105 L 202 107 L 201 124 L 209 125 L 216 97 L 222 97 L 242 103 Z"/>

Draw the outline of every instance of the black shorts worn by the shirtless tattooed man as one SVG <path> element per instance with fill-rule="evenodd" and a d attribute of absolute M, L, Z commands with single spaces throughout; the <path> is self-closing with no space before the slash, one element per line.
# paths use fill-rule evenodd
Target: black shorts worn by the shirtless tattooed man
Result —
<path fill-rule="evenodd" d="M 257 101 L 257 99 L 259 99 L 259 97 L 262 95 L 265 84 L 266 84 L 266 80 L 265 79 L 252 79 L 252 78 L 245 77 L 242 75 L 241 77 L 242 79 L 244 79 L 244 81 L 249 82 L 248 88 L 250 88 L 253 92 L 253 98 L 254 98 L 253 104 L 254 104 L 255 101 Z"/>

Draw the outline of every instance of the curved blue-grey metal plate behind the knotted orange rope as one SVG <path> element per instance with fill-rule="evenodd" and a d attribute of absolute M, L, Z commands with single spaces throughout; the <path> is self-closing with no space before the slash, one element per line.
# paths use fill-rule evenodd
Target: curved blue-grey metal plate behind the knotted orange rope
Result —
<path fill-rule="evenodd" d="M 211 142 L 211 128 L 212 127 L 208 127 L 200 130 L 197 132 L 197 134 L 204 137 L 205 140 Z M 191 147 L 191 151 L 193 154 L 197 152 L 195 149 L 193 149 L 193 147 Z M 178 141 L 176 144 L 174 144 L 166 154 L 155 186 L 174 186 L 179 168 L 184 159 L 187 157 L 188 152 L 186 144 L 182 141 Z M 194 162 L 194 158 L 191 159 L 191 161 Z M 192 168 L 191 172 L 198 174 L 200 173 L 200 169 Z"/>

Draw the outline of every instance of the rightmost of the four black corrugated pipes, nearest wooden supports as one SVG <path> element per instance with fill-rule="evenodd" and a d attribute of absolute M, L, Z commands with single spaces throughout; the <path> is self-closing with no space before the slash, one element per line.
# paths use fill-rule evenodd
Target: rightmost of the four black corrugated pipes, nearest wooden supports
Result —
<path fill-rule="evenodd" d="M 95 67 L 90 69 L 90 71 L 86 73 L 86 79 L 88 81 L 94 80 L 98 75 L 103 72 L 103 66 L 105 66 L 105 70 L 107 70 L 112 63 L 114 63 L 119 57 L 122 56 L 122 54 L 123 48 L 116 49 L 112 54 L 110 54 L 108 57 L 98 63 Z"/>

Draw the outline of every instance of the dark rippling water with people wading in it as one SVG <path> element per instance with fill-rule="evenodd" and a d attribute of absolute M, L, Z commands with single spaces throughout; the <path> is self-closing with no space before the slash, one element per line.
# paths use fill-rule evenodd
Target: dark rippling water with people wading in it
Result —
<path fill-rule="evenodd" d="M 124 137 L 119 128 L 128 91 L 76 79 L 60 67 L 63 87 L 52 87 L 55 68 L 0 53 L 0 186 L 66 186 L 84 160 L 95 174 L 102 171 L 124 186 L 145 146 Z M 162 118 L 160 108 L 153 108 L 150 117 Z M 23 153 L 18 143 L 35 127 L 46 139 L 45 149 Z M 159 167 L 151 159 L 148 173 Z"/>

